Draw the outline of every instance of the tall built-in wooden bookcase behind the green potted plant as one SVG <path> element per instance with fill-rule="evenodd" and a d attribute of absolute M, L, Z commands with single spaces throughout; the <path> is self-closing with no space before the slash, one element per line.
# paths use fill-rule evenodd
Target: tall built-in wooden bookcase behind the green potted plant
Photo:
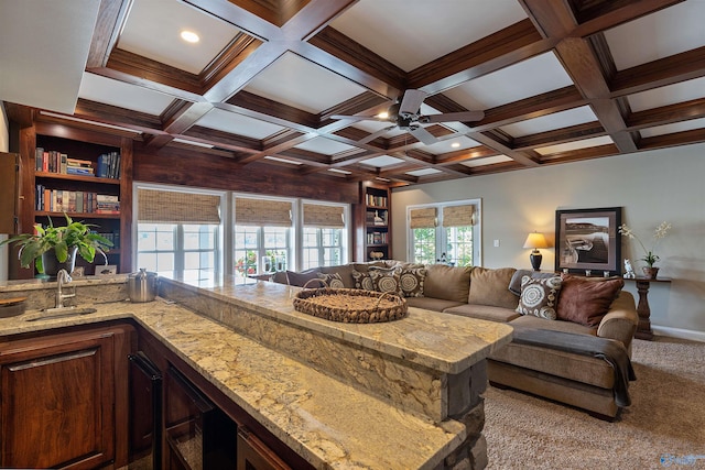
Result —
<path fill-rule="evenodd" d="M 67 214 L 112 240 L 108 264 L 117 265 L 118 272 L 130 272 L 132 140 L 39 121 L 20 130 L 19 142 L 21 232 L 32 232 L 35 223 L 46 226 L 50 218 L 54 225 L 64 225 Z M 79 258 L 77 266 L 95 274 L 104 263 L 97 254 L 93 264 Z M 24 278 L 34 274 L 29 269 L 19 273 Z"/>

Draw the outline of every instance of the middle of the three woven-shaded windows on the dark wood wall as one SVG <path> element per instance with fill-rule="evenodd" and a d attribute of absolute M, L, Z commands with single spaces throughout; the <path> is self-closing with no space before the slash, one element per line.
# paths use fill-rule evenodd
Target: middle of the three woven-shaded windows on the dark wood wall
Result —
<path fill-rule="evenodd" d="M 289 199 L 235 198 L 235 274 L 285 271 L 292 256 L 292 209 Z"/>

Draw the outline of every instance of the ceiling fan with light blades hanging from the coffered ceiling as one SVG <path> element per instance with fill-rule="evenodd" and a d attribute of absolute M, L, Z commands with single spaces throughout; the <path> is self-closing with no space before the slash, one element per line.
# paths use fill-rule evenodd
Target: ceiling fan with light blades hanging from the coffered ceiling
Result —
<path fill-rule="evenodd" d="M 380 135 L 383 135 L 387 131 L 399 128 L 403 131 L 408 131 L 419 141 L 426 145 L 438 142 L 435 135 L 426 131 L 421 124 L 430 124 L 436 122 L 468 122 L 479 121 L 485 117 L 482 111 L 464 111 L 464 112 L 446 112 L 443 114 L 421 114 L 421 105 L 426 99 L 427 94 L 425 91 L 416 89 L 408 89 L 404 91 L 401 101 L 397 101 L 387 113 L 378 116 L 344 116 L 335 114 L 333 119 L 351 119 L 355 121 L 382 121 L 392 122 L 394 125 L 387 127 L 377 132 L 373 132 L 360 140 L 359 143 L 371 142 Z"/>

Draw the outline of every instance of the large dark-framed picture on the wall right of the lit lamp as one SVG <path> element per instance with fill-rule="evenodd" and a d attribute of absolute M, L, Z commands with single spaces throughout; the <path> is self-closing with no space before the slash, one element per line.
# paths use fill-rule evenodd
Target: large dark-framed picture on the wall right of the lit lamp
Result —
<path fill-rule="evenodd" d="M 621 207 L 555 211 L 555 270 L 621 274 Z"/>

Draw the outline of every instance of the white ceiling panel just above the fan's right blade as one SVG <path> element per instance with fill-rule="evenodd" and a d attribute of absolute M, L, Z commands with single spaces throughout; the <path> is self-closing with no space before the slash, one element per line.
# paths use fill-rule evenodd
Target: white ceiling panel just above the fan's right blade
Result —
<path fill-rule="evenodd" d="M 521 77 L 521 83 L 517 81 Z M 489 109 L 573 85 L 555 54 L 547 52 L 446 90 L 467 109 Z"/>

